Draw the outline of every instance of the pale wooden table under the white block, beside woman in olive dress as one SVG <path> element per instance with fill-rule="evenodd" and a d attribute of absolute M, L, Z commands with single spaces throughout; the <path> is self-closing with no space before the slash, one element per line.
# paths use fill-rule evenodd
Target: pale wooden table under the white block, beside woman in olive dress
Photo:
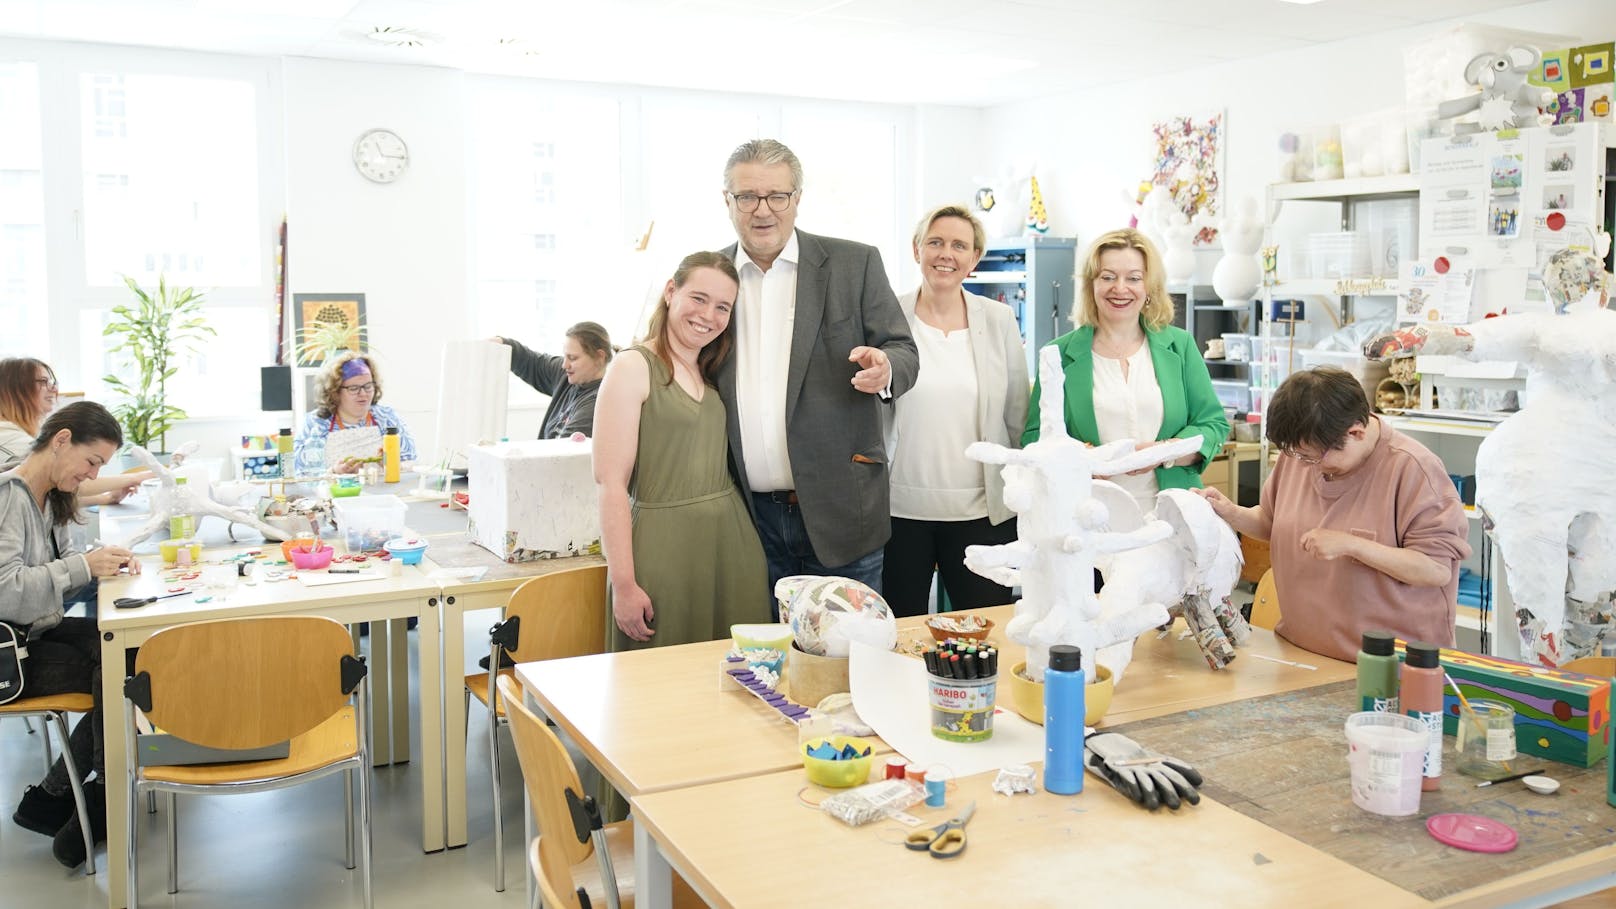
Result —
<path fill-rule="evenodd" d="M 427 537 L 427 563 L 431 573 L 480 569 L 477 579 L 441 577 L 438 621 L 443 639 L 443 750 L 444 750 L 444 844 L 465 846 L 465 613 L 504 608 L 511 592 L 530 577 L 567 571 L 588 564 L 606 564 L 598 555 L 506 563 L 494 553 L 470 542 L 464 532 Z M 425 691 L 425 684 L 422 686 Z"/>

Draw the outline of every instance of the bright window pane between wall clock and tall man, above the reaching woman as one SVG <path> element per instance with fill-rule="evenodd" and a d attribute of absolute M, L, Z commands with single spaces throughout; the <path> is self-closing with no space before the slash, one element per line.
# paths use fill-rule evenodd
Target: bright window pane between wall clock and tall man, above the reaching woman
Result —
<path fill-rule="evenodd" d="M 472 280 L 477 332 L 559 354 L 567 327 L 627 332 L 627 265 L 614 99 L 488 81 L 472 95 Z M 530 188 L 530 191 L 512 191 Z M 621 259 L 621 260 L 619 260 Z M 532 393 L 512 387 L 516 403 Z"/>

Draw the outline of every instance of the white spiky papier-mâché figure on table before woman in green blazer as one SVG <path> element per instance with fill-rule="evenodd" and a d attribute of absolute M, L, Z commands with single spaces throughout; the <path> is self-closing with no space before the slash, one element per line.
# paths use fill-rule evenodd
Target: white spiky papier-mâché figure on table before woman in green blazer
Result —
<path fill-rule="evenodd" d="M 1021 586 L 1005 634 L 1026 645 L 1028 678 L 1044 679 L 1050 645 L 1073 644 L 1083 649 L 1086 665 L 1100 663 L 1122 681 L 1133 639 L 1165 624 L 1170 603 L 1100 603 L 1094 595 L 1096 560 L 1167 540 L 1173 527 L 1152 518 L 1117 531 L 1110 509 L 1094 497 L 1094 477 L 1183 458 L 1197 451 L 1201 440 L 1176 438 L 1136 451 L 1134 442 L 1123 438 L 1089 448 L 1067 433 L 1065 377 L 1054 345 L 1039 351 L 1039 377 L 1037 442 L 1021 450 L 974 442 L 965 450 L 974 461 L 1005 466 L 1005 505 L 1018 516 L 1015 542 L 966 547 L 965 566 L 1007 587 Z"/>

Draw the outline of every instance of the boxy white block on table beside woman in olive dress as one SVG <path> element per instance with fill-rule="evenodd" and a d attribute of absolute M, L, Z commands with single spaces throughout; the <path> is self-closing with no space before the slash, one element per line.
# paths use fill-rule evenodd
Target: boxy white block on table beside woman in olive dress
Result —
<path fill-rule="evenodd" d="M 600 553 L 600 501 L 585 438 L 467 450 L 470 534 L 506 561 Z"/>

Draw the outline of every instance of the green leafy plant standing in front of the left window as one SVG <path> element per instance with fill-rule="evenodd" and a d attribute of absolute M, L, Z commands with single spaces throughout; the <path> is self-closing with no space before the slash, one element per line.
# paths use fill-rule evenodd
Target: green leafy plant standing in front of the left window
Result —
<path fill-rule="evenodd" d="M 168 403 L 168 380 L 179 372 L 179 357 L 196 353 L 204 338 L 218 335 L 202 315 L 204 294 L 192 288 L 168 286 L 157 277 L 157 293 L 147 293 L 124 275 L 123 283 L 136 296 L 136 302 L 112 309 L 112 320 L 102 335 L 118 338 L 112 354 L 123 354 L 133 375 L 108 374 L 102 377 L 120 401 L 112 414 L 123 424 L 124 442 L 150 448 L 168 445 L 168 430 L 186 412 Z"/>

